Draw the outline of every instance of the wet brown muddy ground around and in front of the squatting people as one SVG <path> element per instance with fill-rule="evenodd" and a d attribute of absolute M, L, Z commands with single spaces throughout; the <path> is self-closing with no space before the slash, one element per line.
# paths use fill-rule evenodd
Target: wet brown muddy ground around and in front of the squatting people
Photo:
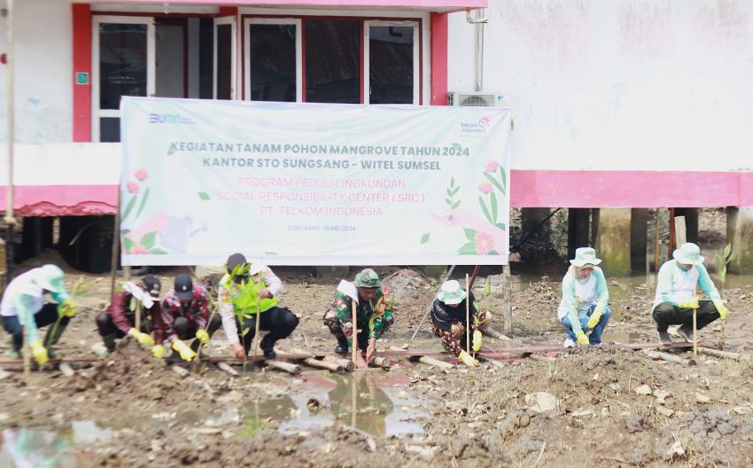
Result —
<path fill-rule="evenodd" d="M 50 255 L 23 267 L 43 261 Z M 541 277 L 516 275 L 513 267 L 513 344 L 562 342 L 555 310 L 564 269 Z M 180 271 L 158 274 L 170 285 Z M 397 297 L 396 324 L 379 347 L 439 349 L 426 323 L 411 340 L 439 279 L 413 269 L 377 271 Z M 329 352 L 334 340 L 321 318 L 338 278 L 276 272 L 287 289 L 281 304 L 300 316 L 279 350 Z M 477 279 L 479 297 L 485 281 Z M 605 341 L 655 340 L 654 290 L 646 281 L 609 279 L 613 317 Z M 66 283 L 79 313 L 59 349 L 89 357 L 110 279 L 68 269 Z M 727 324 L 711 324 L 701 338 L 745 352 L 753 281 L 730 277 L 727 285 Z M 501 316 L 501 294 L 492 287 L 481 307 Z M 495 327 L 504 328 L 501 321 Z M 7 338 L 0 338 L 6 348 Z M 490 350 L 506 345 L 485 339 Z M 229 355 L 222 331 L 207 352 Z M 399 361 L 390 371 L 346 376 L 246 370 L 234 378 L 198 365 L 183 378 L 123 342 L 106 361 L 70 377 L 47 370 L 25 379 L 9 369 L 0 379 L 0 465 L 12 466 L 13 454 L 29 466 L 749 466 L 753 364 L 705 355 L 696 361 L 684 367 L 640 352 L 586 349 L 549 363 L 509 359 L 476 369 Z"/>

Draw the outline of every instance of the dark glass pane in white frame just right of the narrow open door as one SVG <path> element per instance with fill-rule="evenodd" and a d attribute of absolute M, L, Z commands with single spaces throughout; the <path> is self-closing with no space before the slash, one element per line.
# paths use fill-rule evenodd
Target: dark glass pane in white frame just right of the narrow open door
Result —
<path fill-rule="evenodd" d="M 252 101 L 296 100 L 295 25 L 249 25 Z"/>

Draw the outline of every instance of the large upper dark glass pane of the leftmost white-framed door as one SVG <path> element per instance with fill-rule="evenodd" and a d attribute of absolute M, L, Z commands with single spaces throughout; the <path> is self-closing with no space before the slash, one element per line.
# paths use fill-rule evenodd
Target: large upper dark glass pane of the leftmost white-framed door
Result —
<path fill-rule="evenodd" d="M 146 25 L 99 25 L 99 108 L 120 108 L 121 96 L 146 96 Z"/>

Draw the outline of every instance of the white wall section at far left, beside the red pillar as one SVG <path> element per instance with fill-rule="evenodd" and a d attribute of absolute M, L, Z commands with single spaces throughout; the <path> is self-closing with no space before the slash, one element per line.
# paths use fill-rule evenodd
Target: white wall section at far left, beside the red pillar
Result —
<path fill-rule="evenodd" d="M 7 18 L 0 18 L 0 53 L 7 51 Z M 59 1 L 14 2 L 13 56 L 15 140 L 72 140 L 73 51 L 71 5 Z M 0 65 L 0 141 L 7 141 L 8 66 Z"/>

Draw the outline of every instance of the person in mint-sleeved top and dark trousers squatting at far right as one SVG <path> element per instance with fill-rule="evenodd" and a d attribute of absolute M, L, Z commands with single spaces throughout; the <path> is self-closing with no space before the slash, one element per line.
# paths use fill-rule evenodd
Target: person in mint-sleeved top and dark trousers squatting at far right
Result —
<path fill-rule="evenodd" d="M 651 316 L 663 343 L 671 343 L 667 332 L 669 325 L 680 325 L 677 333 L 691 342 L 694 339 L 694 309 L 697 330 L 718 318 L 726 319 L 729 310 L 703 266 L 700 247 L 687 242 L 679 246 L 672 257 L 674 260 L 665 261 L 656 277 L 656 296 Z M 709 300 L 698 300 L 696 286 L 701 286 Z"/>

